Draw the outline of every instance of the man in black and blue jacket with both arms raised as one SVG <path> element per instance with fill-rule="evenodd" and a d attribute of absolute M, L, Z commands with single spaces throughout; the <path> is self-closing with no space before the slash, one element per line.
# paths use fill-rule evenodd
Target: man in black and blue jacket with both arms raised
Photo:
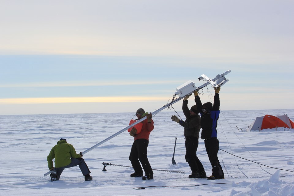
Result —
<path fill-rule="evenodd" d="M 220 116 L 220 87 L 214 88 L 215 95 L 213 104 L 207 102 L 202 105 L 198 91 L 194 91 L 195 102 L 201 115 L 201 138 L 204 139 L 205 149 L 212 166 L 212 175 L 207 177 L 209 180 L 223 179 L 224 171 L 221 168 L 217 153 L 219 141 L 217 139 L 217 120 Z"/>

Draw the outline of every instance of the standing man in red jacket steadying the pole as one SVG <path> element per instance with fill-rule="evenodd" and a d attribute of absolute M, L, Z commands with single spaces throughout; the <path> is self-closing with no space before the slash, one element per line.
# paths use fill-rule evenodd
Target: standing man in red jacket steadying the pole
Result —
<path fill-rule="evenodd" d="M 136 120 L 140 120 L 144 116 L 147 116 L 147 119 L 142 121 L 143 126 L 140 133 L 137 134 L 136 128 L 133 128 L 130 131 L 130 135 L 133 136 L 135 140 L 132 145 L 130 157 L 129 157 L 129 160 L 131 161 L 135 172 L 132 173 L 130 176 L 131 177 L 143 176 L 143 170 L 139 163 L 140 161 L 145 171 L 145 176 L 142 177 L 142 180 L 151 180 L 153 179 L 153 171 L 147 158 L 147 147 L 149 144 L 149 134 L 154 129 L 154 126 L 153 126 L 154 122 L 152 120 L 152 114 L 151 113 L 148 114 L 148 112 L 145 113 L 143 108 L 139 108 L 137 110 L 136 116 L 137 116 Z"/>

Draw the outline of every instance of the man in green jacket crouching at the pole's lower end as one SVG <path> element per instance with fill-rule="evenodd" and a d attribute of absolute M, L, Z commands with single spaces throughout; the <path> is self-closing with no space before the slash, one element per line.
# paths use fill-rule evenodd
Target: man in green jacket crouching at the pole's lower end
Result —
<path fill-rule="evenodd" d="M 85 176 L 85 181 L 92 180 L 92 176 L 90 176 L 91 172 L 85 163 L 85 160 L 82 159 L 82 156 L 81 152 L 80 154 L 76 153 L 73 145 L 67 143 L 66 139 L 61 138 L 47 156 L 48 167 L 49 170 L 52 171 L 50 174 L 51 181 L 58 180 L 64 168 L 71 168 L 77 165 Z M 52 161 L 54 158 L 55 167 L 53 167 Z"/>

